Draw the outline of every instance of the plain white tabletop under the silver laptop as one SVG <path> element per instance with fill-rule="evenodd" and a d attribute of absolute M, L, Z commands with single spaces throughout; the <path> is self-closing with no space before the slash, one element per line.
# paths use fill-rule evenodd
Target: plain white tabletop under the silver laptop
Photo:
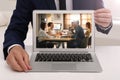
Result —
<path fill-rule="evenodd" d="M 26 49 L 30 55 L 31 49 Z M 103 68 L 102 73 L 15 72 L 0 53 L 0 80 L 120 80 L 120 46 L 97 46 L 96 54 Z"/>

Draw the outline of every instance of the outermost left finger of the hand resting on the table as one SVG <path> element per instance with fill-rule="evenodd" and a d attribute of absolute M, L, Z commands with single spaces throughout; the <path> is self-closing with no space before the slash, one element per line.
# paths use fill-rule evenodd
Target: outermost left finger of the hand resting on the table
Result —
<path fill-rule="evenodd" d="M 9 55 L 6 58 L 7 64 L 10 65 L 10 67 L 15 70 L 15 71 L 19 71 L 22 72 L 23 69 L 20 67 L 20 65 L 17 63 L 17 61 L 15 60 L 15 58 L 12 55 Z"/>

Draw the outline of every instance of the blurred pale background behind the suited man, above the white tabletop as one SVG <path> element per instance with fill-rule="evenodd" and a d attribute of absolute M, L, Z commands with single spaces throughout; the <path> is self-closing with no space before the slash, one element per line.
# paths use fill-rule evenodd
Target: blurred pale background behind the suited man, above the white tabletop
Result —
<path fill-rule="evenodd" d="M 106 8 L 110 9 L 113 16 L 113 28 L 108 35 L 95 32 L 96 45 L 116 46 L 120 45 L 120 0 L 103 0 Z M 0 0 L 0 45 L 4 40 L 4 32 L 7 28 L 12 12 L 15 9 L 16 0 Z M 25 40 L 26 45 L 32 45 L 32 27 L 29 25 L 29 32 Z"/>

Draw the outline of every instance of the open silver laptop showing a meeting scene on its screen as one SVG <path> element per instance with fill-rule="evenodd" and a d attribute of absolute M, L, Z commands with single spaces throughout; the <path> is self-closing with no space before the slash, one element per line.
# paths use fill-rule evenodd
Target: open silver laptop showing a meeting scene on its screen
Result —
<path fill-rule="evenodd" d="M 48 23 L 53 24 L 51 31 Z M 33 11 L 31 72 L 101 72 L 95 54 L 94 27 L 93 10 Z M 56 32 L 54 36 L 49 33 L 52 30 Z"/>

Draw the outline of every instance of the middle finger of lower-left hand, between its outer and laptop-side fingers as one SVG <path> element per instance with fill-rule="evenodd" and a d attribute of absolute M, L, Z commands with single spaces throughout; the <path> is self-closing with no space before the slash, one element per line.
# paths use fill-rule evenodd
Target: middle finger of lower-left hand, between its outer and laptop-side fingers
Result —
<path fill-rule="evenodd" d="M 19 55 L 20 53 L 15 55 L 15 59 L 17 60 L 18 64 L 22 67 L 22 69 L 26 72 L 27 66 L 25 65 L 25 62 L 23 61 L 23 56 Z"/>

